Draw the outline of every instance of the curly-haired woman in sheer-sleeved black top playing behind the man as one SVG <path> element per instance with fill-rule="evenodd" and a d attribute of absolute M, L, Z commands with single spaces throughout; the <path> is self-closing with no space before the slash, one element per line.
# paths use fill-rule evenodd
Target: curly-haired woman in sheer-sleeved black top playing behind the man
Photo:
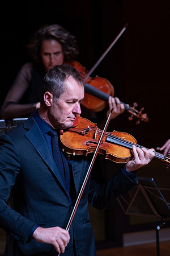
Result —
<path fill-rule="evenodd" d="M 79 54 L 75 36 L 58 24 L 41 27 L 31 36 L 27 48 L 32 62 L 23 65 L 7 93 L 1 108 L 1 118 L 5 120 L 29 117 L 40 106 L 42 80 L 48 69 L 71 64 Z M 108 109 L 97 114 L 83 109 L 81 116 L 103 123 L 112 108 L 112 119 L 125 110 L 118 98 L 109 97 Z"/>

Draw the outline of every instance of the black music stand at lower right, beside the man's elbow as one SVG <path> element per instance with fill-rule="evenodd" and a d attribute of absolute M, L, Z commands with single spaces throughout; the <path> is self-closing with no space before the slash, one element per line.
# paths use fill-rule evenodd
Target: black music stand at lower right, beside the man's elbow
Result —
<path fill-rule="evenodd" d="M 138 185 L 134 189 L 119 196 L 117 200 L 125 214 L 158 218 L 155 230 L 156 251 L 159 256 L 159 230 L 160 226 L 165 225 L 163 218 L 170 217 L 170 203 L 162 193 L 163 188 L 159 188 L 153 178 L 138 177 Z M 170 191 L 170 189 L 164 190 Z"/>

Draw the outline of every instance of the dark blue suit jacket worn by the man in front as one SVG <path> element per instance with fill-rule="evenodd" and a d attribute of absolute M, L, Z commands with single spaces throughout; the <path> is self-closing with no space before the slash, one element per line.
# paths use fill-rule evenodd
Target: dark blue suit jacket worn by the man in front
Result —
<path fill-rule="evenodd" d="M 70 163 L 78 195 L 90 162 L 88 157 L 79 156 Z M 95 208 L 104 209 L 136 182 L 120 170 L 105 183 L 100 179 L 100 170 L 97 175 L 92 171 L 63 255 L 73 255 L 73 243 L 78 256 L 96 255 L 88 201 Z M 0 137 L 0 184 L 0 225 L 14 238 L 14 255 L 57 255 L 52 245 L 29 240 L 35 224 L 66 228 L 73 210 L 47 143 L 32 116 Z M 7 205 L 11 191 L 15 211 Z"/>

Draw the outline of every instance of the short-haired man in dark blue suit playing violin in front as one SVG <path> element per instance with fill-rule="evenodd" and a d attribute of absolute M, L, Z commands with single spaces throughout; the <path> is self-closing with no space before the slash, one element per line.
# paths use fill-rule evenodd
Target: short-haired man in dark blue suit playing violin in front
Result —
<path fill-rule="evenodd" d="M 54 153 L 50 134 L 56 131 L 57 136 L 60 130 L 73 126 L 81 113 L 84 86 L 79 72 L 70 65 L 49 69 L 41 95 L 40 108 L 0 137 L 0 226 L 12 237 L 11 249 L 17 256 L 93 256 L 95 238 L 88 202 L 96 209 L 105 209 L 137 185 L 136 171 L 150 163 L 154 149 L 133 146 L 133 158 L 108 181 L 96 160 L 67 230 L 91 154 L 67 158 L 60 144 Z M 10 193 L 12 208 L 7 205 Z"/>

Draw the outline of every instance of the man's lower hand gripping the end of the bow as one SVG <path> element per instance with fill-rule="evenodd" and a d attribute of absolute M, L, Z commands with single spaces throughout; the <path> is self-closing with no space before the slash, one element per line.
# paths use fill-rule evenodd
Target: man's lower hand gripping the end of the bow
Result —
<path fill-rule="evenodd" d="M 37 228 L 32 236 L 36 241 L 41 243 L 50 243 L 54 246 L 57 253 L 64 253 L 65 247 L 70 241 L 69 232 L 65 229 L 55 226 L 53 228 Z"/>

